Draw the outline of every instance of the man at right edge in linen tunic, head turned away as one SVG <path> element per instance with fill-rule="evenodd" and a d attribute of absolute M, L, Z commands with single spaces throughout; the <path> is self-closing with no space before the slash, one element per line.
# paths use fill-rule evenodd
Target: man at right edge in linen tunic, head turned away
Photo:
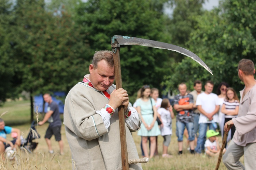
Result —
<path fill-rule="evenodd" d="M 240 91 L 238 117 L 225 123 L 224 131 L 236 126 L 234 136 L 223 155 L 223 163 L 228 169 L 255 169 L 256 167 L 256 81 L 255 67 L 251 60 L 242 59 L 238 63 L 238 77 L 245 87 Z M 230 128 L 227 125 L 230 124 Z M 244 155 L 244 165 L 239 159 Z"/>

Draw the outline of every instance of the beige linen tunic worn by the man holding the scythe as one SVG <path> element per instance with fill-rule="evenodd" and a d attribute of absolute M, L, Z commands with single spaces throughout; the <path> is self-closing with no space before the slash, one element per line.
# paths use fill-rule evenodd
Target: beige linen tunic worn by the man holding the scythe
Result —
<path fill-rule="evenodd" d="M 115 89 L 115 85 L 107 92 Z M 109 99 L 82 83 L 76 84 L 66 97 L 64 124 L 67 140 L 75 162 L 73 169 L 122 169 L 118 109 L 110 119 L 106 130 L 100 111 Z M 141 120 L 140 120 L 141 124 Z M 140 126 L 140 125 L 139 125 Z M 132 129 L 126 124 L 126 141 L 129 159 L 138 159 L 138 152 L 132 135 L 139 129 Z M 140 164 L 130 165 L 130 169 L 142 169 Z"/>

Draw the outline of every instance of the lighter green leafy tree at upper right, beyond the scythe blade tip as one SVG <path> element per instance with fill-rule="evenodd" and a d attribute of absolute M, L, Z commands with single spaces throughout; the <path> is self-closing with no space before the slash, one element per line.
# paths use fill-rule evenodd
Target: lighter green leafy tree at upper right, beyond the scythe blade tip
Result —
<path fill-rule="evenodd" d="M 226 0 L 219 8 L 198 16 L 198 25 L 188 45 L 212 69 L 213 76 L 185 58 L 163 84 L 171 88 L 185 81 L 191 88 L 193 81 L 199 79 L 212 80 L 216 85 L 225 81 L 236 90 L 242 89 L 237 76 L 238 62 L 248 58 L 255 63 L 255 7 L 256 2 L 251 0 Z"/>

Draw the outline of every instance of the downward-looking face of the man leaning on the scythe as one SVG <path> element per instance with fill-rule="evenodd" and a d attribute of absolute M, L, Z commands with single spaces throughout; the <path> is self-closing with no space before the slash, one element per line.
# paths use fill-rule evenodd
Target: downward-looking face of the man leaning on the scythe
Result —
<path fill-rule="evenodd" d="M 95 68 L 92 64 L 89 66 L 89 80 L 91 84 L 100 91 L 108 89 L 115 80 L 114 67 L 110 67 L 105 60 L 98 62 L 98 67 Z"/>

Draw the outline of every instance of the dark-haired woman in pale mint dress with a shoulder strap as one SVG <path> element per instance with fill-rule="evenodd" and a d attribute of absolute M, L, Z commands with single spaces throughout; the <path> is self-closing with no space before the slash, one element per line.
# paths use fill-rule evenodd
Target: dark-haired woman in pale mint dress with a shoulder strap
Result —
<path fill-rule="evenodd" d="M 142 136 L 142 148 L 145 157 L 152 158 L 156 150 L 156 136 L 160 135 L 160 129 L 156 121 L 157 111 L 154 99 L 150 98 L 150 86 L 141 88 L 140 98 L 136 100 L 137 111 L 141 115 L 141 129 L 138 136 Z M 150 137 L 150 156 L 148 155 L 147 139 Z"/>

